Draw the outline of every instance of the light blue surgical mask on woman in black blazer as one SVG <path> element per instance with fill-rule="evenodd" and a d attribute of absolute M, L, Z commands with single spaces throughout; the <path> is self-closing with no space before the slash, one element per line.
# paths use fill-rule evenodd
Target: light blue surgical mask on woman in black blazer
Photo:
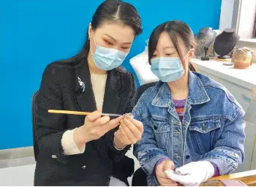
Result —
<path fill-rule="evenodd" d="M 94 60 L 95 65 L 99 69 L 103 69 L 105 71 L 109 71 L 120 66 L 124 59 L 127 57 L 127 53 L 123 51 L 119 51 L 114 48 L 104 48 L 100 45 L 97 45 L 94 39 L 94 43 L 96 45 L 95 53 L 92 54 L 92 58 Z"/>

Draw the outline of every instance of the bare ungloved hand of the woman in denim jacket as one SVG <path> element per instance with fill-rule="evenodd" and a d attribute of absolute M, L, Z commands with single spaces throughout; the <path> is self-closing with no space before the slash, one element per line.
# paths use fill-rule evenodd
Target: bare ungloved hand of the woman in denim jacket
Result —
<path fill-rule="evenodd" d="M 166 170 L 174 170 L 174 162 L 170 159 L 165 159 L 159 165 L 156 166 L 156 178 L 161 186 L 177 186 L 174 180 L 168 178 L 165 174 Z"/>

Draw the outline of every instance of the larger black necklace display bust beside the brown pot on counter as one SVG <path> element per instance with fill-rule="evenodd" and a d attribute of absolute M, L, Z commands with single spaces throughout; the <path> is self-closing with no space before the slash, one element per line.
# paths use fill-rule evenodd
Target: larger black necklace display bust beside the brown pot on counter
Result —
<path fill-rule="evenodd" d="M 240 39 L 236 34 L 234 28 L 226 28 L 218 37 L 216 37 L 213 44 L 213 48 L 216 54 L 219 54 L 219 59 L 231 58 L 230 54 L 234 47 L 237 45 L 237 41 Z"/>

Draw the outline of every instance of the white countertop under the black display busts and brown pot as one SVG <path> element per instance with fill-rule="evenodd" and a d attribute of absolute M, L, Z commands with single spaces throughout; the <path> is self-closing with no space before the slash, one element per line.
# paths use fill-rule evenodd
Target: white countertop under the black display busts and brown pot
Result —
<path fill-rule="evenodd" d="M 223 62 L 216 60 L 202 61 L 200 59 L 192 59 L 191 62 L 204 72 L 209 72 L 214 76 L 237 83 L 247 89 L 256 89 L 255 64 L 252 64 L 249 69 L 234 69 L 233 66 L 225 66 Z"/>

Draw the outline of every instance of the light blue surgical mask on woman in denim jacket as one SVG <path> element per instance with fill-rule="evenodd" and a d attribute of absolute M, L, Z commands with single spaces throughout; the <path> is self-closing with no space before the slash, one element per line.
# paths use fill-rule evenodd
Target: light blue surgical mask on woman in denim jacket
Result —
<path fill-rule="evenodd" d="M 189 52 L 186 54 L 186 56 Z M 184 57 L 184 59 L 186 58 Z M 158 57 L 151 61 L 151 71 L 162 82 L 174 82 L 184 74 L 182 62 L 179 57 Z"/>

